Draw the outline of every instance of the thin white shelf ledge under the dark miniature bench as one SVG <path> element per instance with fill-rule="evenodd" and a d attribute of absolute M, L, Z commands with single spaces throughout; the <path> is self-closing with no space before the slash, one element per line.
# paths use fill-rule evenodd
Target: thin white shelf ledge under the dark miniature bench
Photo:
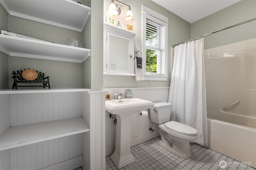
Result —
<path fill-rule="evenodd" d="M 41 89 L 1 89 L 0 94 L 30 94 L 30 93 L 58 93 L 58 92 L 86 92 L 90 88 L 41 88 Z"/>

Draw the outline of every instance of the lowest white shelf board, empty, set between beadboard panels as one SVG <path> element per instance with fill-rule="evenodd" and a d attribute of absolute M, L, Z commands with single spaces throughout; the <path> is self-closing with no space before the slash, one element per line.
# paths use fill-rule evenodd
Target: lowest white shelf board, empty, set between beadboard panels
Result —
<path fill-rule="evenodd" d="M 83 117 L 14 126 L 0 136 L 0 150 L 90 131 Z"/>

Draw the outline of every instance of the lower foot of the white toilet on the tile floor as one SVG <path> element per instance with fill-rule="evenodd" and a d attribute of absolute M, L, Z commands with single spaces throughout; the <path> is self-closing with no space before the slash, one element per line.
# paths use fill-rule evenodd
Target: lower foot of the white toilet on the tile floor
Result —
<path fill-rule="evenodd" d="M 179 156 L 180 158 L 189 159 L 192 156 L 192 154 L 190 152 L 189 142 L 188 143 L 179 143 L 178 145 L 182 149 L 177 148 L 177 143 L 176 142 L 173 143 L 172 147 L 170 145 L 164 143 L 163 141 L 159 141 L 159 144 L 162 147 L 164 147 L 165 149 L 172 152 L 173 154 Z M 187 147 L 188 147 L 188 149 L 187 149 Z M 179 150 L 179 151 L 177 151 L 177 150 Z"/>

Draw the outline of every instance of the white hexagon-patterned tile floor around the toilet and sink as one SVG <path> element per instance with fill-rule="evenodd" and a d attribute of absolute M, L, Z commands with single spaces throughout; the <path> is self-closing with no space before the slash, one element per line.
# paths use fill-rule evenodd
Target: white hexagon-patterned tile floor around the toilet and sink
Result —
<path fill-rule="evenodd" d="M 157 137 L 131 147 L 136 162 L 120 170 L 255 170 L 196 143 L 190 143 L 192 157 L 182 159 L 160 146 L 159 141 Z M 117 170 L 110 156 L 106 157 L 106 170 Z"/>

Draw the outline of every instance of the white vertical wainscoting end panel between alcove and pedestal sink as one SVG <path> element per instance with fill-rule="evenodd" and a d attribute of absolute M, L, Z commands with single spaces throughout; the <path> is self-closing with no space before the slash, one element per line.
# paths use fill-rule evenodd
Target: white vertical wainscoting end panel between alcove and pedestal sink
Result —
<path fill-rule="evenodd" d="M 83 149 L 85 154 L 89 156 L 84 158 L 86 170 L 104 170 L 106 169 L 105 157 L 105 90 L 90 91 L 90 145 Z M 88 138 L 86 138 L 88 140 Z M 88 154 L 88 151 L 90 151 Z M 89 164 L 90 166 L 88 166 Z M 88 166 L 88 167 L 87 167 Z M 84 168 L 83 168 L 84 169 Z"/>

